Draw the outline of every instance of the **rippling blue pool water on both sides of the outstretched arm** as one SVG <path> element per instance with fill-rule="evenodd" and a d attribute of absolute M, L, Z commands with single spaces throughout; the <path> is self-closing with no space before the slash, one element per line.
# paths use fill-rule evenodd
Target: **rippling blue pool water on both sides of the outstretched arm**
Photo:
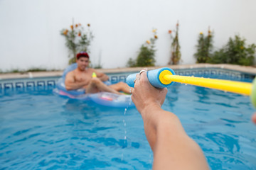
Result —
<path fill-rule="evenodd" d="M 256 169 L 250 98 L 174 84 L 163 108 L 178 115 L 211 169 Z M 63 98 L 52 89 L 0 94 L 0 169 L 151 169 L 136 108 Z"/>

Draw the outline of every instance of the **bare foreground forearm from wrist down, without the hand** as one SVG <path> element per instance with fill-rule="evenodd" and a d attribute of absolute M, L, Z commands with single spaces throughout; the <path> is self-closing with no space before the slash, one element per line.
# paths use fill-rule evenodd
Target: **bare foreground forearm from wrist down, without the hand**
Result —
<path fill-rule="evenodd" d="M 174 113 L 159 106 L 144 111 L 144 130 L 154 152 L 154 169 L 208 169 L 201 148 L 186 135 Z"/>

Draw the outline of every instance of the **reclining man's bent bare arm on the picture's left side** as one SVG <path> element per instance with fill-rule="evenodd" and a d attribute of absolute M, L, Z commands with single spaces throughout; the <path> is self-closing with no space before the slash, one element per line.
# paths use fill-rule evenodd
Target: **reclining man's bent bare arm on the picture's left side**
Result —
<path fill-rule="evenodd" d="M 73 72 L 69 72 L 65 77 L 65 89 L 69 90 L 76 90 L 85 86 L 86 82 L 75 82 L 75 76 Z"/>

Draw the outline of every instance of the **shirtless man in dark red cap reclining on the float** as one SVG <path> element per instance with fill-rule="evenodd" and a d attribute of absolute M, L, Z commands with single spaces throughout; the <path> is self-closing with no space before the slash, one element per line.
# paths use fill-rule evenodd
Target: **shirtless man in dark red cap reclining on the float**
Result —
<path fill-rule="evenodd" d="M 67 90 L 85 89 L 87 94 L 95 94 L 100 91 L 107 91 L 114 94 L 121 94 L 123 91 L 126 94 L 131 94 L 130 87 L 124 82 L 107 86 L 102 81 L 107 81 L 109 77 L 95 69 L 87 68 L 89 65 L 89 55 L 87 52 L 80 52 L 77 55 L 78 67 L 69 72 L 65 77 L 65 88 Z M 92 77 L 95 72 L 97 77 Z"/>

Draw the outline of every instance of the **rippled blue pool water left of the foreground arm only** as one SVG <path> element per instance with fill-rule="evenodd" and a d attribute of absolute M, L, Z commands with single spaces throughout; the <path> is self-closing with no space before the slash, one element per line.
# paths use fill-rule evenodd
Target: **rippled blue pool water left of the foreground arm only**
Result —
<path fill-rule="evenodd" d="M 124 108 L 46 91 L 0 100 L 0 169 L 151 168 L 151 150 L 134 107 L 127 108 L 124 127 Z"/>

